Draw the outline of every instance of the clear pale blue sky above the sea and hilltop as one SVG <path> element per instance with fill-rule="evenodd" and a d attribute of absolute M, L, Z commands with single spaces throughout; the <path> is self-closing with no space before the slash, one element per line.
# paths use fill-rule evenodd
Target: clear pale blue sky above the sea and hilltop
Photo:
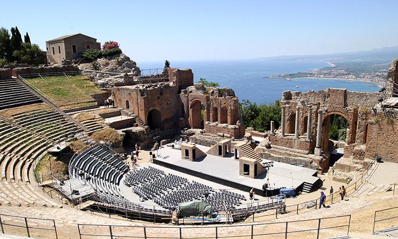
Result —
<path fill-rule="evenodd" d="M 8 1 L 33 43 L 82 33 L 135 61 L 248 59 L 398 45 L 398 1 Z"/>

